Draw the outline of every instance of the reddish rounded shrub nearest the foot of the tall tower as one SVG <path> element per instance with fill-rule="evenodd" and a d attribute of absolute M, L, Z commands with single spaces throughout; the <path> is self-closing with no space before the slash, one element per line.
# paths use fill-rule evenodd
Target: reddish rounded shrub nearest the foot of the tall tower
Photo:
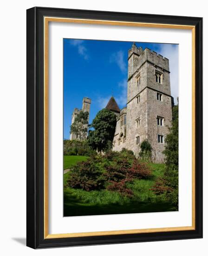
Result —
<path fill-rule="evenodd" d="M 128 177 L 147 179 L 152 175 L 151 169 L 147 167 L 145 163 L 140 163 L 138 160 L 134 160 L 132 167 L 128 170 Z"/>

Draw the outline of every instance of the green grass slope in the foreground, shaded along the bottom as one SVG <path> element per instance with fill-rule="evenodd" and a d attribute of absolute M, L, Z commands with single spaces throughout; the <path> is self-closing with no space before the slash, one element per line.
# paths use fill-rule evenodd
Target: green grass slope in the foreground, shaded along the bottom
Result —
<path fill-rule="evenodd" d="M 156 196 L 150 188 L 157 177 L 162 177 L 164 164 L 149 164 L 153 170 L 150 179 L 135 179 L 129 188 L 134 197 L 123 197 L 117 192 L 100 190 L 84 191 L 82 189 L 64 189 L 64 216 L 87 216 L 104 214 L 126 214 L 144 212 L 173 211 L 169 202 Z M 64 175 L 66 185 L 70 172 Z"/>

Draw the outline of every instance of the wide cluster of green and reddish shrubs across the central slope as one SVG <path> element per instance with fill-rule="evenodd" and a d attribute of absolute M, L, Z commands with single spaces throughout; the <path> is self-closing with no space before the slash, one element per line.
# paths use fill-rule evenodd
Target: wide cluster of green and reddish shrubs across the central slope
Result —
<path fill-rule="evenodd" d="M 130 157 L 126 157 L 129 155 Z M 147 179 L 151 170 L 140 163 L 129 150 L 109 151 L 106 155 L 94 155 L 72 168 L 67 186 L 87 191 L 109 189 L 121 195 L 131 196 L 127 185 L 133 179 Z"/>

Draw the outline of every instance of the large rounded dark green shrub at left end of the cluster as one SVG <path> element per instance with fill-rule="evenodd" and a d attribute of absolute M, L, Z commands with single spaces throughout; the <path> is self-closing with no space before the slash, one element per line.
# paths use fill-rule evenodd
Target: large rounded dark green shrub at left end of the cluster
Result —
<path fill-rule="evenodd" d="M 103 189 L 104 182 L 105 178 L 102 170 L 100 170 L 95 162 L 89 160 L 86 162 L 78 162 L 77 165 L 72 168 L 67 186 L 90 191 Z"/>

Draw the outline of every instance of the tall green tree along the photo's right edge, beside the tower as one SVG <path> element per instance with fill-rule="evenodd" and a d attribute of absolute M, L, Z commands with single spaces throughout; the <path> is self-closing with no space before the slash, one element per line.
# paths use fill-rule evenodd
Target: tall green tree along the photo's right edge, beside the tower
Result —
<path fill-rule="evenodd" d="M 166 196 L 176 208 L 178 207 L 178 105 L 173 107 L 172 127 L 165 138 L 165 185 L 170 188 Z"/>

